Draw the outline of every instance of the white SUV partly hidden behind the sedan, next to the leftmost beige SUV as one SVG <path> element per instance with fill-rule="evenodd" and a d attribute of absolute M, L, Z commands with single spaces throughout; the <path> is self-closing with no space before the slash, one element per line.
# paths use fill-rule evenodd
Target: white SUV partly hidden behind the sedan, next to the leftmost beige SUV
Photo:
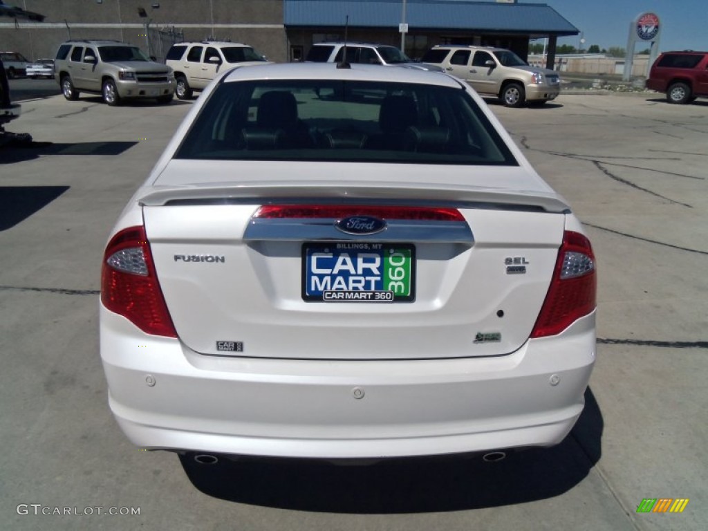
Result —
<path fill-rule="evenodd" d="M 180 42 L 172 45 L 165 60 L 177 80 L 177 97 L 187 100 L 201 91 L 224 69 L 268 64 L 261 53 L 239 42 Z"/>

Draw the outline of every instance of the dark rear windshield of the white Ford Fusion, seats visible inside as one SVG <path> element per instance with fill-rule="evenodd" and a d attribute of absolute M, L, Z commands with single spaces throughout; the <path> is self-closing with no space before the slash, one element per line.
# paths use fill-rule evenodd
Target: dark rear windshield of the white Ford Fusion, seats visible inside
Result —
<path fill-rule="evenodd" d="M 517 165 L 464 89 L 385 81 L 224 82 L 176 158 Z"/>

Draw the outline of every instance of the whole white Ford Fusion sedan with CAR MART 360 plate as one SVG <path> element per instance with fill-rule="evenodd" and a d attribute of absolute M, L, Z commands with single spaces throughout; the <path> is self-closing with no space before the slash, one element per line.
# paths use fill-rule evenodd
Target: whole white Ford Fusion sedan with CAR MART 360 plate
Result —
<path fill-rule="evenodd" d="M 464 82 L 234 69 L 110 234 L 110 409 L 200 462 L 555 445 L 583 410 L 595 286 L 580 222 Z"/>

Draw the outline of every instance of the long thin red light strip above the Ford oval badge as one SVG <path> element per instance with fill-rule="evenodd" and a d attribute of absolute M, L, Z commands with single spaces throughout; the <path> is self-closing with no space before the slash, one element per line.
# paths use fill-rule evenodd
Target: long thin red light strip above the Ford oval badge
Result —
<path fill-rule="evenodd" d="M 381 207 L 376 205 L 265 205 L 253 215 L 254 218 L 261 219 L 292 217 L 341 219 L 348 216 L 464 222 L 464 217 L 456 208 Z"/>

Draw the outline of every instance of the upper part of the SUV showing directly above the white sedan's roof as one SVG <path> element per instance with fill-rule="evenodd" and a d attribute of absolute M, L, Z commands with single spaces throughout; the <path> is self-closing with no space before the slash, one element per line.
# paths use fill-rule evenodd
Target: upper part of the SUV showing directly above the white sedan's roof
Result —
<path fill-rule="evenodd" d="M 306 62 L 338 63 L 344 57 L 346 47 L 346 62 L 362 64 L 383 64 L 384 66 L 414 68 L 442 72 L 435 65 L 413 61 L 395 46 L 372 44 L 369 42 L 318 42 L 310 48 L 305 57 Z"/>

